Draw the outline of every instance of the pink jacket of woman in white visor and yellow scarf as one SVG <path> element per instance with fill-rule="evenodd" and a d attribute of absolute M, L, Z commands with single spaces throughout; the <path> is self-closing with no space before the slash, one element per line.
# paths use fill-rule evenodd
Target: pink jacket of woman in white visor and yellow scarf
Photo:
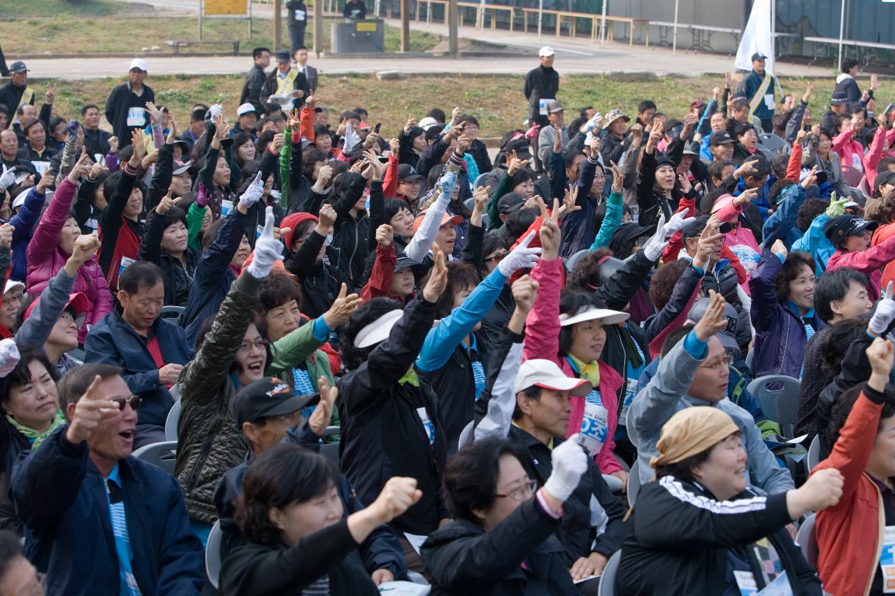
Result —
<path fill-rule="evenodd" d="M 540 260 L 532 269 L 532 279 L 541 284 L 534 307 L 525 319 L 525 340 L 522 360 L 542 358 L 556 362 L 569 377 L 575 371 L 565 358 L 559 356 L 559 290 L 562 286 L 562 259 Z M 622 468 L 612 452 L 615 451 L 615 431 L 618 426 L 618 391 L 624 385 L 621 375 L 609 364 L 600 362 L 600 396 L 608 411 L 609 434 L 600 453 L 594 458 L 601 473 L 619 472 Z M 572 397 L 572 415 L 568 419 L 566 436 L 581 429 L 584 419 L 584 397 Z"/>

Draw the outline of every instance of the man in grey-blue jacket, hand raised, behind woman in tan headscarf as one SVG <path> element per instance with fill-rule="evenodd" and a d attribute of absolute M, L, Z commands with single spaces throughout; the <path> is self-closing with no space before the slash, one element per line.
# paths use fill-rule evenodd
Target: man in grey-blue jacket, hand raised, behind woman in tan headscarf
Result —
<path fill-rule="evenodd" d="M 643 464 L 637 468 L 644 484 L 652 479 L 653 470 L 646 463 L 659 455 L 657 444 L 662 425 L 678 410 L 708 406 L 728 413 L 742 431 L 748 457 L 743 473 L 749 486 L 767 494 L 795 487 L 788 471 L 780 467 L 765 447 L 752 414 L 725 399 L 733 362 L 729 349 L 736 345 L 732 337 L 723 333 L 730 324 L 726 307 L 724 298 L 710 291 L 709 302 L 699 321 L 693 327 L 679 328 L 669 334 L 662 345 L 655 376 L 648 380 L 642 377 L 638 383 L 638 387 L 644 388 L 631 403 L 627 434 L 637 447 L 638 462 Z"/>

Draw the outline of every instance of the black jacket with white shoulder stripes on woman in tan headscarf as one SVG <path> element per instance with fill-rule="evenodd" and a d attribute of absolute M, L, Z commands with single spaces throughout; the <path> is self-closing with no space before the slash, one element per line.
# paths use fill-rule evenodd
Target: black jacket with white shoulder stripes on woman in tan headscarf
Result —
<path fill-rule="evenodd" d="M 665 476 L 644 484 L 628 519 L 616 592 L 626 596 L 721 594 L 728 575 L 728 551 L 739 550 L 764 587 L 751 543 L 767 537 L 780 556 L 792 593 L 820 595 L 821 582 L 784 526 L 791 522 L 786 493 L 717 501 L 692 481 Z M 729 580 L 726 580 L 726 576 Z"/>

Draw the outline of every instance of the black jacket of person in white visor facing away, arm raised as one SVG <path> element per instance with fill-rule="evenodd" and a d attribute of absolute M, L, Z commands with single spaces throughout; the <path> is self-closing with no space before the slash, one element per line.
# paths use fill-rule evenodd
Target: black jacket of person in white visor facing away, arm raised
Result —
<path fill-rule="evenodd" d="M 414 534 L 434 532 L 449 516 L 441 492 L 447 435 L 435 392 L 422 379 L 419 387 L 398 383 L 420 353 L 435 312 L 435 304 L 422 297 L 411 301 L 388 339 L 338 383 L 342 473 L 365 503 L 372 503 L 392 476 L 415 478 L 422 498 L 391 523 Z M 433 444 L 418 413 L 422 408 L 432 424 Z"/>

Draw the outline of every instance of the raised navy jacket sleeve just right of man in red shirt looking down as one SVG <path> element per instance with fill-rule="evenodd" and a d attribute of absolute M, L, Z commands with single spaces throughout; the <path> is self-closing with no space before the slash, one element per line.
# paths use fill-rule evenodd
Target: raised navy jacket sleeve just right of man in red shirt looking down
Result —
<path fill-rule="evenodd" d="M 180 324 L 186 328 L 186 339 L 192 346 L 205 319 L 217 312 L 224 302 L 236 274 L 230 268 L 230 261 L 243 241 L 245 216 L 239 209 L 231 209 L 223 225 L 217 228 L 217 236 L 202 253 L 196 272 L 192 276 L 190 298 L 180 316 Z"/>

